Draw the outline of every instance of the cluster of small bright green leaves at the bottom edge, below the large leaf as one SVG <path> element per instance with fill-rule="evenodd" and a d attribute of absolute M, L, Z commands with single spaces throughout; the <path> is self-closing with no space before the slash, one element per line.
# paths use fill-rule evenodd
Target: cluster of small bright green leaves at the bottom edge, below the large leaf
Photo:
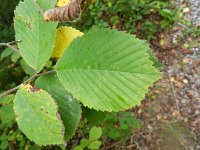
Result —
<path fill-rule="evenodd" d="M 102 136 L 102 128 L 94 126 L 89 132 L 89 139 L 82 139 L 80 145 L 76 146 L 74 150 L 83 149 L 99 149 L 102 142 L 99 140 Z"/>

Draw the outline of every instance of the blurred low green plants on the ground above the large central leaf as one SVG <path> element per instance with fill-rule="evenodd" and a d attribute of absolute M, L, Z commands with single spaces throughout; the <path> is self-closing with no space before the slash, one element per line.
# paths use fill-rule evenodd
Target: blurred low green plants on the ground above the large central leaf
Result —
<path fill-rule="evenodd" d="M 163 0 L 95 0 L 78 22 L 70 24 L 83 31 L 93 25 L 112 27 L 150 40 L 177 19 L 177 10 Z"/>

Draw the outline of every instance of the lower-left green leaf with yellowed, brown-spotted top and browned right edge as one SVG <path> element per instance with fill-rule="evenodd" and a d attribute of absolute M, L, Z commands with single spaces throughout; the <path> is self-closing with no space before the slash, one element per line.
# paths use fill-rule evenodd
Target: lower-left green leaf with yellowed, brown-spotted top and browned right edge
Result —
<path fill-rule="evenodd" d="M 58 107 L 45 91 L 22 85 L 14 99 L 14 111 L 20 130 L 36 144 L 64 144 Z"/>

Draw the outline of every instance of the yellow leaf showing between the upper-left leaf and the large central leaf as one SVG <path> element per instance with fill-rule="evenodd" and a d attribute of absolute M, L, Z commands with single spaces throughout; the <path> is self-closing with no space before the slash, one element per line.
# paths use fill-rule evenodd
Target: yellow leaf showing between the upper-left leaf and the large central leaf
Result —
<path fill-rule="evenodd" d="M 76 39 L 78 36 L 82 35 L 83 35 L 82 32 L 72 27 L 58 28 L 56 33 L 55 47 L 51 57 L 60 58 L 63 55 L 64 50 L 72 43 L 72 41 Z"/>

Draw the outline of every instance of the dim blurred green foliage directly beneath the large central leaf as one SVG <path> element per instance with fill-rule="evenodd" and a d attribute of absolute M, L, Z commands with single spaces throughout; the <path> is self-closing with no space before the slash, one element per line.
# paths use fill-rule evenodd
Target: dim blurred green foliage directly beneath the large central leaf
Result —
<path fill-rule="evenodd" d="M 83 117 L 87 119 L 89 128 L 95 123 L 102 127 L 104 138 L 121 143 L 129 140 L 134 131 L 142 127 L 142 122 L 134 118 L 132 112 L 127 111 L 105 113 L 84 108 Z"/>

